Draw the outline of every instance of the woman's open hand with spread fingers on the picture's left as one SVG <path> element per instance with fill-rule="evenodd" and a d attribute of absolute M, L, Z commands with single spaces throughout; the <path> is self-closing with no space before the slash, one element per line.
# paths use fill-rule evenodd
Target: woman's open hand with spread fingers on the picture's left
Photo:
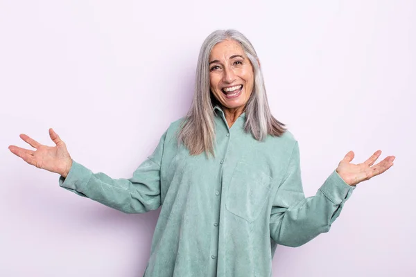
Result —
<path fill-rule="evenodd" d="M 19 148 L 15 145 L 10 145 L 8 148 L 10 152 L 17 157 L 21 157 L 26 163 L 37 168 L 58 173 L 66 178 L 72 166 L 72 159 L 67 150 L 67 145 L 65 145 L 52 128 L 49 129 L 49 136 L 51 136 L 56 146 L 42 145 L 29 136 L 26 136 L 26 134 L 20 134 L 20 138 L 33 148 L 36 148 L 36 151 Z"/>

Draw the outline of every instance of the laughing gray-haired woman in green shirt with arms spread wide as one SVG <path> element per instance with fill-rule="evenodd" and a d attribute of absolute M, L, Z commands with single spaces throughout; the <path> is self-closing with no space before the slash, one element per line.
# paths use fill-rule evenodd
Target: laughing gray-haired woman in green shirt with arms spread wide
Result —
<path fill-rule="evenodd" d="M 125 213 L 162 206 L 144 276 L 271 276 L 277 244 L 299 247 L 329 231 L 356 184 L 381 174 L 348 152 L 315 196 L 305 198 L 293 134 L 268 107 L 257 53 L 236 30 L 202 44 L 191 109 L 166 129 L 130 179 L 93 173 L 55 147 L 10 145 L 27 163 L 60 174 L 63 188 Z"/>

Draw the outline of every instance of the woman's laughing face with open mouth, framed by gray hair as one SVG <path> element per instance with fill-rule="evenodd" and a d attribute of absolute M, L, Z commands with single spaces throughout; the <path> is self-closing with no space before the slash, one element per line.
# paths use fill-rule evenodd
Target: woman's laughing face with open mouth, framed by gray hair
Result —
<path fill-rule="evenodd" d="M 209 55 L 209 87 L 225 109 L 242 112 L 253 84 L 252 64 L 239 42 L 225 40 L 212 48 Z"/>

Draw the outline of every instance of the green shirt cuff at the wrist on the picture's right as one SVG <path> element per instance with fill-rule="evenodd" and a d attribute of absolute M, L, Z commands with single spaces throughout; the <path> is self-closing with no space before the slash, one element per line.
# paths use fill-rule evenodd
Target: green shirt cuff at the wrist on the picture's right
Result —
<path fill-rule="evenodd" d="M 320 187 L 320 190 L 333 204 L 339 205 L 351 196 L 355 188 L 356 186 L 349 186 L 349 184 L 345 183 L 343 178 L 338 175 L 338 172 L 333 170 Z"/>

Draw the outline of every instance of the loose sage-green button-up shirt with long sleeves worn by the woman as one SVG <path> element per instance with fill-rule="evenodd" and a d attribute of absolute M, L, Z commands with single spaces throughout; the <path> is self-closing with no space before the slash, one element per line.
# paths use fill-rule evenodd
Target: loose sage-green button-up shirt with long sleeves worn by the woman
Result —
<path fill-rule="evenodd" d="M 216 113 L 215 159 L 177 145 L 180 118 L 130 179 L 93 173 L 73 161 L 59 184 L 125 213 L 162 206 L 146 277 L 272 276 L 277 244 L 299 247 L 329 231 L 355 186 L 333 170 L 305 198 L 291 132 L 263 142 L 244 132 L 245 113 L 228 127 Z"/>

